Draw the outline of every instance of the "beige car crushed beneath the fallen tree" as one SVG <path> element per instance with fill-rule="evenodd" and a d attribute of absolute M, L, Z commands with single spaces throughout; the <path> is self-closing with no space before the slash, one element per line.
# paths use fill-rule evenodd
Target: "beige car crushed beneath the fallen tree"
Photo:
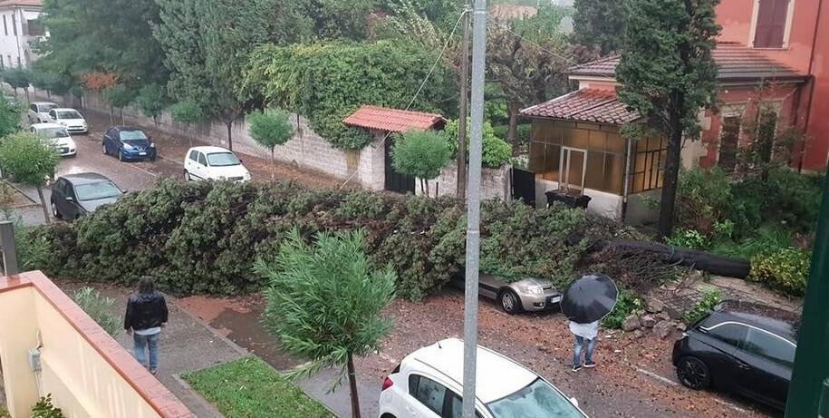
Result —
<path fill-rule="evenodd" d="M 464 278 L 456 277 L 452 284 L 464 288 Z M 562 301 L 562 294 L 553 282 L 543 278 L 524 278 L 510 283 L 502 277 L 481 275 L 478 295 L 496 300 L 510 315 L 552 309 Z"/>

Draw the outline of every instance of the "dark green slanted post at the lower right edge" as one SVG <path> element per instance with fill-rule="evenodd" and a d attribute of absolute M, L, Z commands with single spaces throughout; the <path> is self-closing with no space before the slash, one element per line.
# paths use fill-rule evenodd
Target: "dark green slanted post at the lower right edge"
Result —
<path fill-rule="evenodd" d="M 806 286 L 803 318 L 797 331 L 797 353 L 786 401 L 786 418 L 816 417 L 824 380 L 829 377 L 829 181 L 815 234 L 812 274 Z"/>

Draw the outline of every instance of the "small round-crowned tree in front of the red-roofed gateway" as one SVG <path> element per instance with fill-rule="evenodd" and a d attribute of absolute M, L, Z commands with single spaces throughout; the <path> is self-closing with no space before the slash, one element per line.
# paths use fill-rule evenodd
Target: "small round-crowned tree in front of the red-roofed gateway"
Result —
<path fill-rule="evenodd" d="M 420 180 L 420 191 L 429 197 L 427 181 L 436 179 L 452 158 L 446 138 L 434 131 L 408 131 L 395 139 L 391 149 L 394 170 Z"/>

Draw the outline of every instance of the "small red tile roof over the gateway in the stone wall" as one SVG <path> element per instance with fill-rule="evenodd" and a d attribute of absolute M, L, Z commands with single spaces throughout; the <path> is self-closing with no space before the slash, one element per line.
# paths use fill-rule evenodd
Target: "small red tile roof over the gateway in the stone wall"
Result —
<path fill-rule="evenodd" d="M 426 131 L 446 119 L 436 113 L 411 112 L 380 106 L 362 106 L 342 120 L 349 126 L 378 131 Z"/>

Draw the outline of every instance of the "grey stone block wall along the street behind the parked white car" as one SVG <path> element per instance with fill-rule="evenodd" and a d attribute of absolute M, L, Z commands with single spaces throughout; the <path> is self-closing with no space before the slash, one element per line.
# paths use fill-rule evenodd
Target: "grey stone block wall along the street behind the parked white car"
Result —
<path fill-rule="evenodd" d="M 109 106 L 95 94 L 84 96 L 84 108 L 89 111 L 109 113 Z M 139 110 L 124 109 L 127 123 L 140 126 L 153 126 L 170 135 L 192 138 L 205 144 L 227 147 L 227 126 L 222 122 L 206 122 L 198 125 L 173 122 L 169 112 L 164 112 L 158 124 L 144 116 Z M 317 135 L 308 125 L 308 121 L 292 114 L 294 139 L 275 148 L 275 159 L 296 164 L 304 170 L 320 171 L 337 179 L 350 180 L 368 190 L 382 190 L 384 182 L 384 154 L 382 136 L 361 151 L 342 151 Z M 270 159 L 270 151 L 257 144 L 248 131 L 247 122 L 238 121 L 232 128 L 233 149 L 248 155 Z"/>

